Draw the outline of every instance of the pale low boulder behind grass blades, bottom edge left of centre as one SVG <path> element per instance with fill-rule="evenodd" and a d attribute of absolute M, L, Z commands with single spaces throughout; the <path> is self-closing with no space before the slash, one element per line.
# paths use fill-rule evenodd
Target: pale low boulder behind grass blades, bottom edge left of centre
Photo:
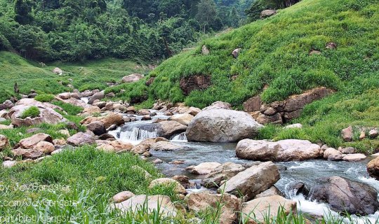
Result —
<path fill-rule="evenodd" d="M 166 195 L 136 195 L 128 200 L 113 205 L 114 208 L 120 209 L 124 213 L 129 211 L 138 211 L 141 207 L 147 209 L 147 211 L 159 211 L 159 214 L 163 217 L 173 216 L 177 214 L 177 210 L 174 204 L 171 202 L 170 197 Z"/>

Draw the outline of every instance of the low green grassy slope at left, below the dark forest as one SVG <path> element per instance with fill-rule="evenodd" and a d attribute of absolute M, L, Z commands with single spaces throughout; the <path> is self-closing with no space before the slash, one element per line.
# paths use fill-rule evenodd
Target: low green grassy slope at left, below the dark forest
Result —
<path fill-rule="evenodd" d="M 55 66 L 60 67 L 65 73 L 62 76 L 53 73 Z M 69 90 L 68 84 L 79 90 L 104 89 L 107 82 L 120 81 L 130 73 L 145 71 L 147 70 L 142 66 L 121 59 L 102 59 L 84 63 L 55 62 L 41 67 L 38 62 L 27 61 L 11 52 L 0 52 L 0 79 L 3 90 L 0 92 L 0 102 L 13 95 L 15 82 L 18 83 L 22 94 L 29 93 L 31 89 L 56 94 Z"/>

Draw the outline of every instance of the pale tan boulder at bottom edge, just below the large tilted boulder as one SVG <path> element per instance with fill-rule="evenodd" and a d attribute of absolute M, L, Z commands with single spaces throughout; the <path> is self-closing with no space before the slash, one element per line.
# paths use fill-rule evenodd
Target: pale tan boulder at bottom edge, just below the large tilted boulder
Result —
<path fill-rule="evenodd" d="M 296 214 L 296 202 L 286 200 L 284 197 L 274 195 L 270 197 L 259 197 L 243 205 L 242 216 L 248 220 L 247 224 L 265 223 L 267 218 L 277 217 L 279 209 L 285 214 Z"/>

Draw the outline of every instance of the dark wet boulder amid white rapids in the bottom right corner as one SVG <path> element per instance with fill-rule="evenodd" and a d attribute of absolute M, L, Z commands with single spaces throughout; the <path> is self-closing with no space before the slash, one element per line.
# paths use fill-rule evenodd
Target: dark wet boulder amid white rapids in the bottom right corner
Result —
<path fill-rule="evenodd" d="M 317 181 L 310 200 L 326 202 L 333 211 L 366 216 L 379 209 L 378 193 L 371 186 L 351 181 L 340 176 L 331 176 Z"/>

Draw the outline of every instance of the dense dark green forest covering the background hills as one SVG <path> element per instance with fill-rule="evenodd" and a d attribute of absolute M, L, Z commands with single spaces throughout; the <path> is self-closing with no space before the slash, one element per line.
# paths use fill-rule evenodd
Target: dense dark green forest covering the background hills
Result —
<path fill-rule="evenodd" d="M 42 62 L 162 59 L 204 32 L 237 27 L 252 1 L 0 0 L 0 50 Z"/>

